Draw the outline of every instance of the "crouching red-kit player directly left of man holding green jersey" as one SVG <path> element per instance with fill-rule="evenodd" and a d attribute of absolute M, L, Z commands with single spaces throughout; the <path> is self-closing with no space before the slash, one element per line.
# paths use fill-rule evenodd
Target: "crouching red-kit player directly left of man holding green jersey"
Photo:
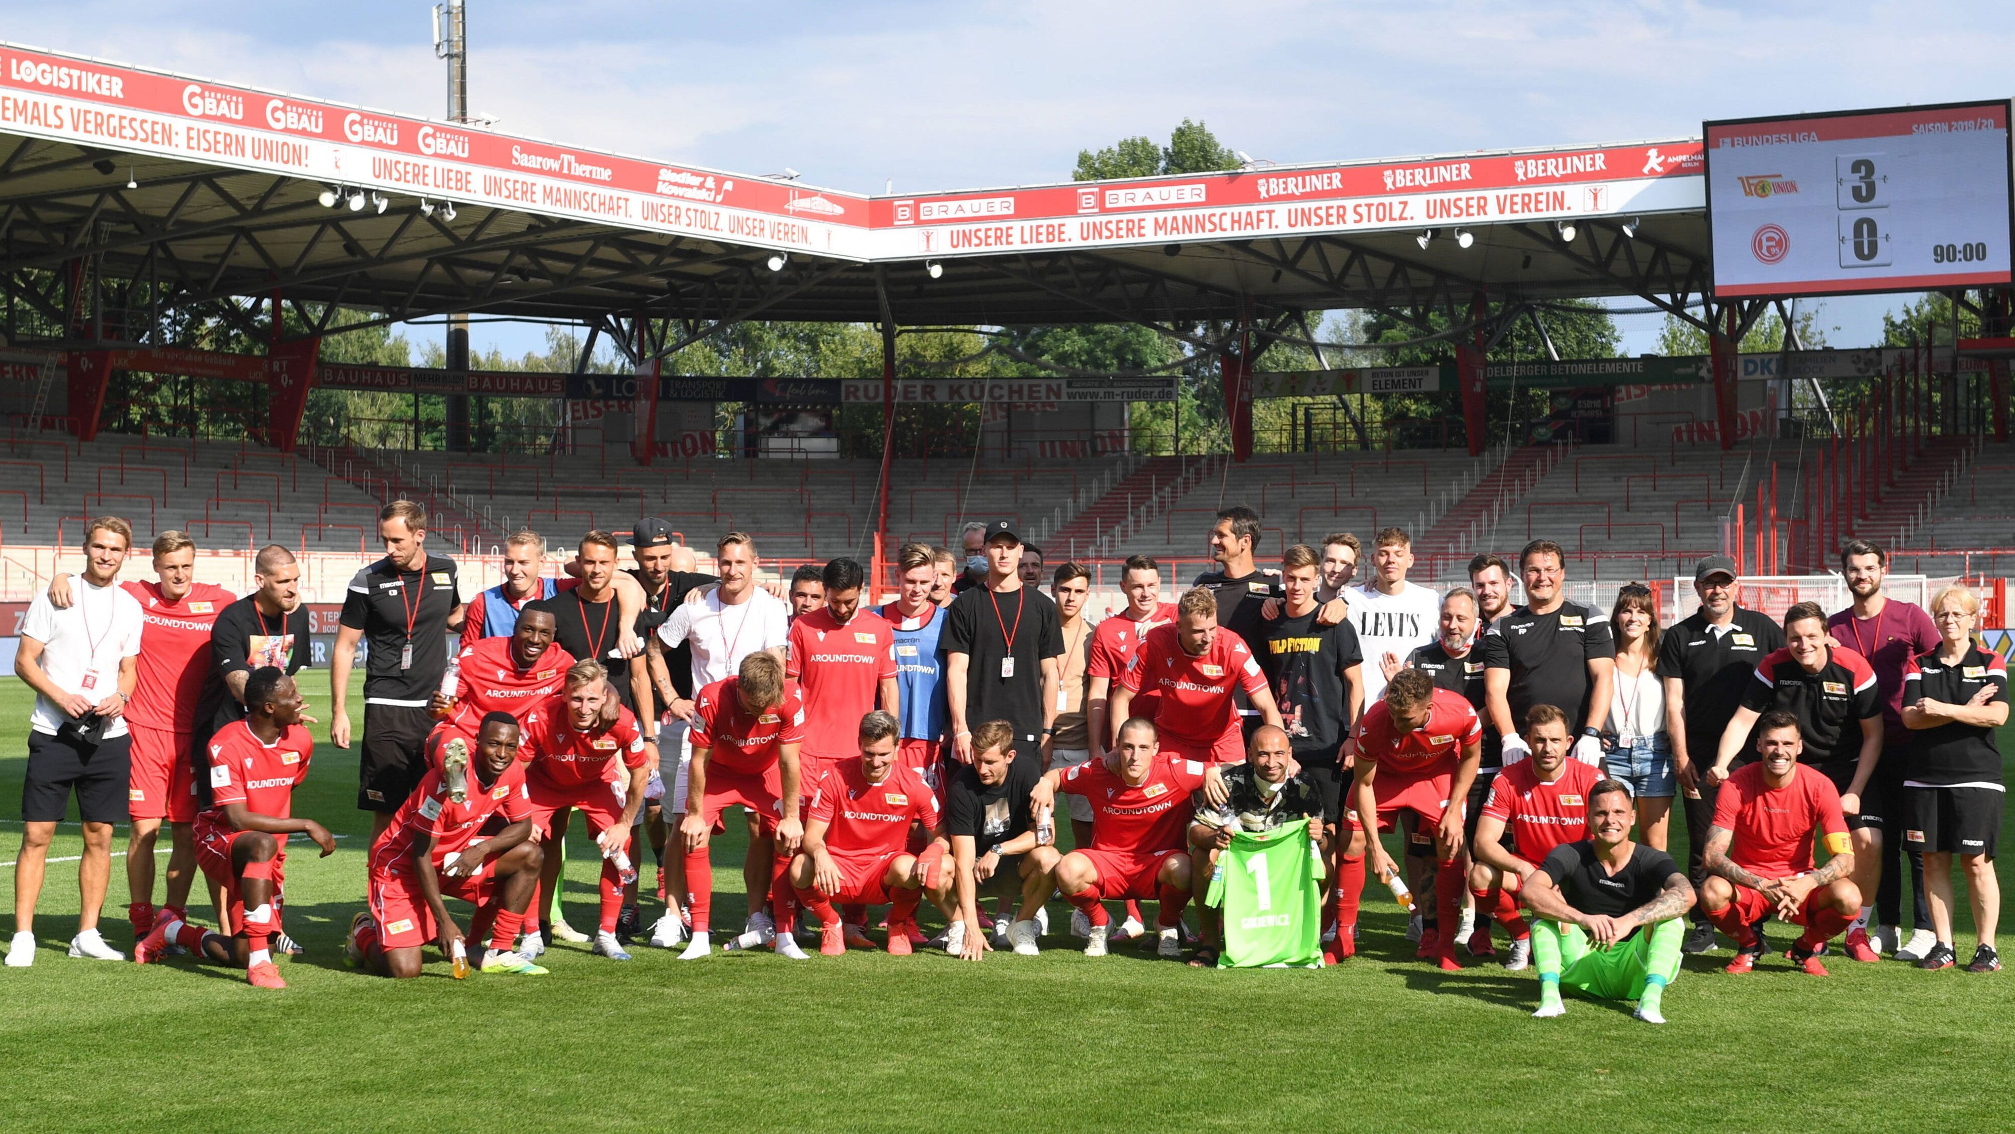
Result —
<path fill-rule="evenodd" d="M 1185 850 L 1195 814 L 1191 794 L 1209 782 L 1211 800 L 1223 802 L 1223 773 L 1217 765 L 1205 771 L 1195 759 L 1161 751 L 1155 723 L 1140 717 L 1122 723 L 1116 739 L 1118 771 L 1094 759 L 1052 769 L 1036 782 L 1038 814 L 1054 814 L 1058 792 L 1092 802 L 1092 846 L 1056 862 L 1056 888 L 1092 923 L 1086 957 L 1106 955 L 1112 918 L 1104 902 L 1122 898 L 1161 900 L 1157 949 L 1163 957 L 1181 957 L 1183 906 L 1193 880 Z"/>

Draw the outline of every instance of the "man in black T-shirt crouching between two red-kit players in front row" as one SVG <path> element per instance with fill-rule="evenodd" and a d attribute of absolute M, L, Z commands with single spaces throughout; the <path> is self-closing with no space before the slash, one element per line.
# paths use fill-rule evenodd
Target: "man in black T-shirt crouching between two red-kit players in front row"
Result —
<path fill-rule="evenodd" d="M 991 945 L 979 931 L 979 900 L 999 898 L 995 927 L 1008 929 L 1008 941 L 1022 957 L 1036 957 L 1042 937 L 1042 904 L 1056 884 L 1056 820 L 1048 814 L 1038 822 L 1030 796 L 1042 769 L 1030 757 L 1014 753 L 1014 725 L 983 721 L 973 729 L 973 761 L 957 763 L 945 796 L 945 830 L 951 834 L 951 860 L 957 864 L 959 916 L 945 933 L 945 953 L 963 961 L 979 961 Z M 1050 824 L 1050 840 L 1040 826 Z M 1014 925 L 1008 910 L 1020 900 Z M 999 933 L 995 929 L 995 933 Z"/>

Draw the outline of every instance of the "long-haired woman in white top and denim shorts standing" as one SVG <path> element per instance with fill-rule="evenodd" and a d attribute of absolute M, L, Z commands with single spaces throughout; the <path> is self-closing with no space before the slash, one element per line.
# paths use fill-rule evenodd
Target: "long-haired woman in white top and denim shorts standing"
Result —
<path fill-rule="evenodd" d="M 1658 667 L 1658 604 L 1642 582 L 1624 584 L 1610 610 L 1616 634 L 1616 683 L 1602 761 L 1630 786 L 1638 804 L 1638 840 L 1664 850 L 1672 812 L 1672 737 L 1664 725 L 1664 683 Z"/>

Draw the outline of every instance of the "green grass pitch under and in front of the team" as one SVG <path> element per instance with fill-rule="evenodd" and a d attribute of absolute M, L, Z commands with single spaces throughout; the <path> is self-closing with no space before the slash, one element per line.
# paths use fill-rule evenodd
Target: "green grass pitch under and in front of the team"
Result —
<path fill-rule="evenodd" d="M 302 683 L 326 737 L 326 675 Z M 0 681 L 14 818 L 26 717 L 24 687 Z M 50 864 L 36 963 L 0 971 L 0 1130 L 1993 1130 L 2015 1080 L 2015 973 L 1836 959 L 1820 981 L 1775 957 L 1727 977 L 1723 951 L 1687 959 L 1662 1029 L 1572 999 L 1535 1021 L 1529 971 L 1413 961 L 1376 886 L 1360 957 L 1326 971 L 1193 971 L 1126 947 L 1090 961 L 1056 902 L 1040 959 L 681 963 L 639 945 L 621 965 L 558 945 L 542 979 L 457 983 L 431 961 L 393 983 L 341 959 L 371 830 L 355 784 L 355 753 L 322 743 L 296 814 L 347 838 L 288 862 L 306 955 L 282 965 L 284 993 L 185 959 L 71 961 L 75 866 Z M 582 844 L 574 925 L 592 920 Z M 50 854 L 77 852 L 64 828 Z M 740 852 L 713 854 L 723 927 L 742 916 Z M 131 949 L 123 864 L 103 925 Z M 12 908 L 12 870 L 0 886 Z M 1961 961 L 1969 927 L 1961 898 Z"/>

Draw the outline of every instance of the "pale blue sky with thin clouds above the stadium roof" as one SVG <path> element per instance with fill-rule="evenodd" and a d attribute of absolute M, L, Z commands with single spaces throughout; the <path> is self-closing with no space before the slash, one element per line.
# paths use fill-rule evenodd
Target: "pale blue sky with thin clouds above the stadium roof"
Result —
<path fill-rule="evenodd" d="M 0 36 L 441 115 L 429 0 L 0 0 Z M 1068 179 L 1183 117 L 1273 161 L 1697 135 L 1703 119 L 2011 95 L 2007 4 L 469 0 L 498 127 L 856 191 Z M 1826 300 L 1832 342 L 1894 296 Z M 1622 318 L 1648 350 L 1654 316 Z M 417 334 L 433 334 L 417 332 Z M 536 330 L 486 328 L 506 348 Z"/>

